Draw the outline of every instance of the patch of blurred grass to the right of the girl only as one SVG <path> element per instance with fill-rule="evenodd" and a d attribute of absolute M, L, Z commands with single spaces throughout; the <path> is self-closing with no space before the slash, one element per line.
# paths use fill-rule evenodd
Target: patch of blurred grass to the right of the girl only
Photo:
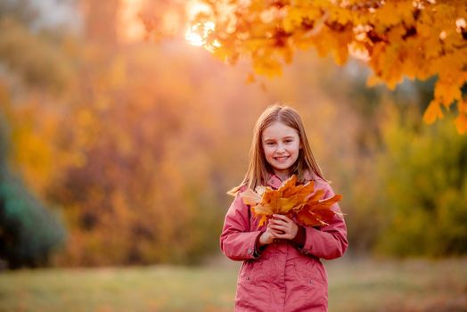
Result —
<path fill-rule="evenodd" d="M 467 311 L 467 259 L 327 262 L 330 311 Z"/>

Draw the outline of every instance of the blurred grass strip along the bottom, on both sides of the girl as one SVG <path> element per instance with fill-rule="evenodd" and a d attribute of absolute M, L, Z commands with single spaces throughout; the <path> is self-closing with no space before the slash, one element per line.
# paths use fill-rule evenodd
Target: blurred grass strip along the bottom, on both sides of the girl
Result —
<path fill-rule="evenodd" d="M 330 312 L 467 311 L 467 259 L 325 262 Z M 0 311 L 233 311 L 238 264 L 0 274 Z"/>

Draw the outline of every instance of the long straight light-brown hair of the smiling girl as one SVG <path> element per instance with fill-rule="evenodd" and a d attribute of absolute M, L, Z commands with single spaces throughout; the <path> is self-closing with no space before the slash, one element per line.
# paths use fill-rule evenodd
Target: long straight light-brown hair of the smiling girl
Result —
<path fill-rule="evenodd" d="M 326 181 L 315 160 L 313 152 L 311 152 L 307 134 L 305 133 L 305 128 L 303 127 L 299 113 L 291 107 L 274 104 L 266 108 L 266 111 L 263 111 L 261 116 L 259 116 L 253 130 L 253 141 L 250 147 L 250 164 L 247 173 L 242 183 L 233 187 L 232 190 L 227 192 L 228 194 L 235 195 L 240 191 L 243 185 L 247 185 L 254 190 L 258 185 L 266 183 L 269 176 L 274 174 L 274 169 L 266 161 L 262 144 L 263 131 L 274 122 L 282 122 L 284 125 L 295 129 L 299 135 L 301 146 L 299 158 L 292 165 L 291 174 L 297 175 L 300 183 L 307 182 L 308 178 L 314 180 L 316 178 L 321 178 Z"/>

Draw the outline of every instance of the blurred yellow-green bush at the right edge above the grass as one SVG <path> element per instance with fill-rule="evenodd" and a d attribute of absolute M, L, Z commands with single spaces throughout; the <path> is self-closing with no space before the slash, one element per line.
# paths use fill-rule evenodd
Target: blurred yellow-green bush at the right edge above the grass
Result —
<path fill-rule="evenodd" d="M 450 116 L 449 119 L 453 117 Z M 447 121 L 420 127 L 397 111 L 382 130 L 377 158 L 384 230 L 377 250 L 399 256 L 467 252 L 467 138 Z"/>

